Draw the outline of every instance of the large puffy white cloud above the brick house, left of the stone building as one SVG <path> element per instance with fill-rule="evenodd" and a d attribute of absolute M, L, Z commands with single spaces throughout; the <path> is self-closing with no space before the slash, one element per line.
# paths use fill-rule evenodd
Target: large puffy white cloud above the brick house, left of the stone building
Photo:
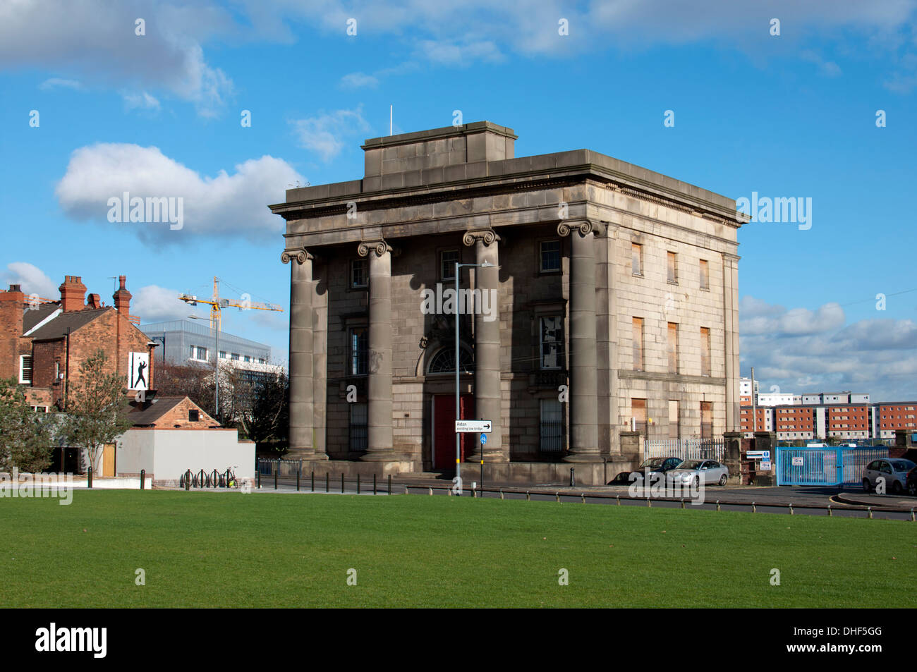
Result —
<path fill-rule="evenodd" d="M 55 193 L 61 208 L 77 219 L 107 224 L 108 199 L 130 197 L 182 197 L 184 226 L 124 223 L 144 240 L 183 240 L 187 235 L 247 237 L 275 240 L 283 220 L 271 214 L 269 204 L 284 199 L 285 185 L 305 182 L 286 161 L 263 156 L 202 176 L 156 147 L 108 143 L 76 149 Z"/>

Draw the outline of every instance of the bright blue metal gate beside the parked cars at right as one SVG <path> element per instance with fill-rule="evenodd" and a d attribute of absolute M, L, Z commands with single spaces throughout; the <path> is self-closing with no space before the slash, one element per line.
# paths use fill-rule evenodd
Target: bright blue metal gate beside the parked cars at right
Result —
<path fill-rule="evenodd" d="M 889 457 L 881 447 L 777 447 L 778 485 L 857 485 L 874 459 Z"/>

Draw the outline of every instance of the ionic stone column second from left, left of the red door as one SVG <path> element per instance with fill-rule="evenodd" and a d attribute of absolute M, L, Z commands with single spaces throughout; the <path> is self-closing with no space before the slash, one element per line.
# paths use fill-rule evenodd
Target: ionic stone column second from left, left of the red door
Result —
<path fill-rule="evenodd" d="M 359 244 L 370 258 L 370 347 L 368 441 L 360 459 L 395 459 L 392 447 L 392 247 L 384 240 Z"/>

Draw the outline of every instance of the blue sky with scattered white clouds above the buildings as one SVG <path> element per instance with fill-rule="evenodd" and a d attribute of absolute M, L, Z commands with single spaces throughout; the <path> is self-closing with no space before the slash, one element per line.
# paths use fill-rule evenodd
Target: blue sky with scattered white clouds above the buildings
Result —
<path fill-rule="evenodd" d="M 396 134 L 458 111 L 512 127 L 517 157 L 593 149 L 746 211 L 801 199 L 739 230 L 742 375 L 917 399 L 917 0 L 491 5 L 0 0 L 0 282 L 56 299 L 79 275 L 110 303 L 123 274 L 149 323 L 206 315 L 176 297 L 216 276 L 282 306 L 223 322 L 285 362 L 267 206 L 362 177 L 390 105 Z M 182 197 L 181 225 L 110 221 L 125 192 Z"/>

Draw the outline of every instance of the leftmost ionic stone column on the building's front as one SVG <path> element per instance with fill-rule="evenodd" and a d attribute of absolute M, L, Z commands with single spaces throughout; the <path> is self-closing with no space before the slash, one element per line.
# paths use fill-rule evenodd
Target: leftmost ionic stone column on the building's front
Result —
<path fill-rule="evenodd" d="M 305 248 L 281 255 L 290 263 L 290 454 L 297 459 L 327 459 L 315 453 L 313 442 L 313 259 Z"/>

